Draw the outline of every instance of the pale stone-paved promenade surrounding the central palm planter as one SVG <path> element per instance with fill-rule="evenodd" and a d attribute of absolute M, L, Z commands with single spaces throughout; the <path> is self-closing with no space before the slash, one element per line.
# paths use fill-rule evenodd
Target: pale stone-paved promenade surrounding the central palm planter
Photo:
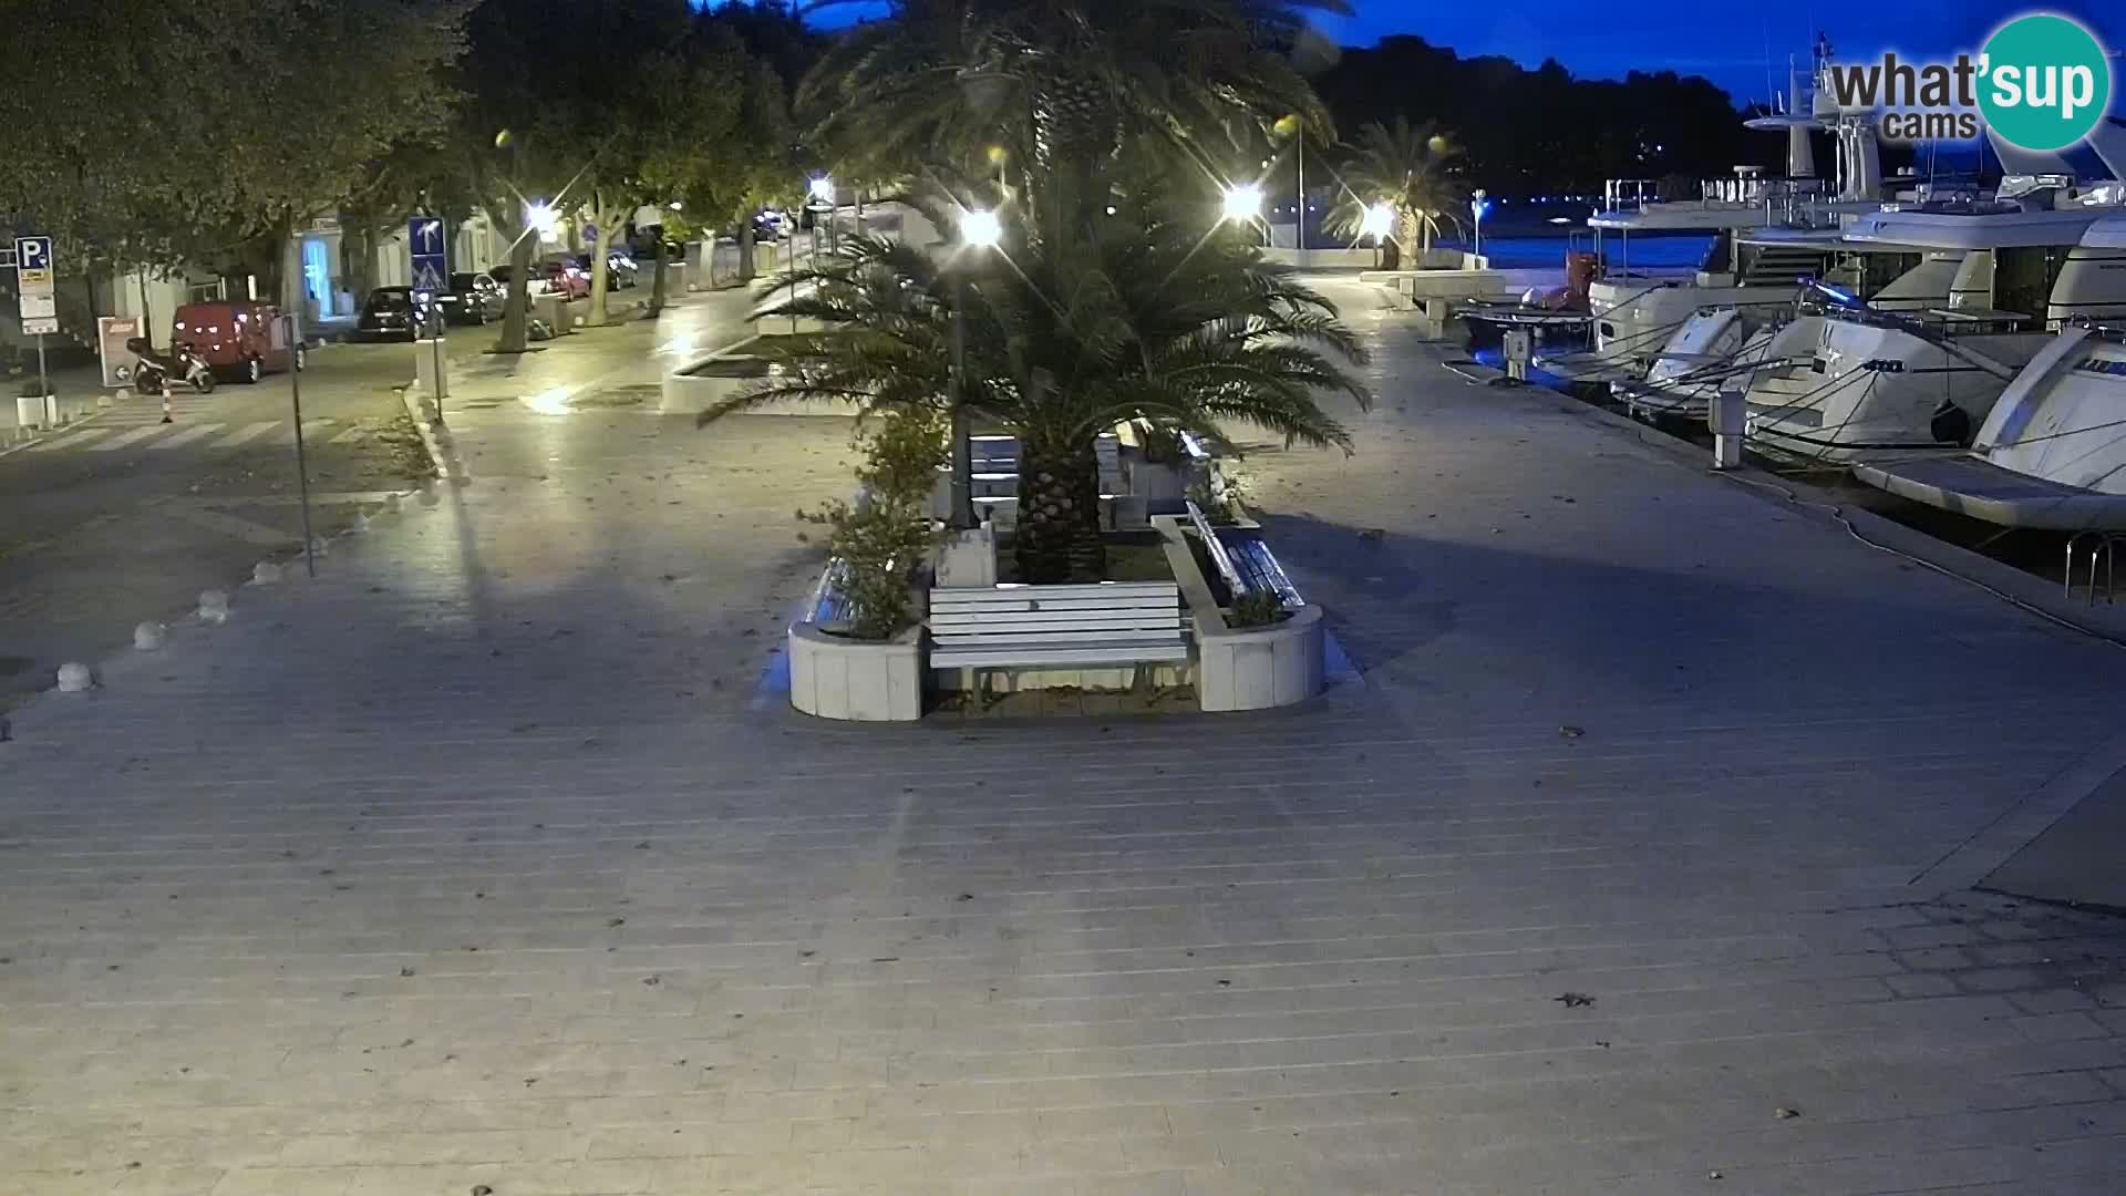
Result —
<path fill-rule="evenodd" d="M 453 411 L 15 711 L 0 1194 L 2126 1187 L 2126 928 L 1969 887 L 2117 651 L 1376 319 L 1252 458 L 1363 672 L 1280 715 L 802 721 L 846 426 Z"/>

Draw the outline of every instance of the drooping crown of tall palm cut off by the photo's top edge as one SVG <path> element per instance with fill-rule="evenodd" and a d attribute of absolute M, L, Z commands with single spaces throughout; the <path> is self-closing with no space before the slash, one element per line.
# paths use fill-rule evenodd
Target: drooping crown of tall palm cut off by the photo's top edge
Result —
<path fill-rule="evenodd" d="M 799 94 L 816 138 L 916 164 L 999 149 L 1025 181 L 1091 177 L 1118 147 L 1188 147 L 1235 113 L 1329 113 L 1293 68 L 1307 11 L 1346 0 L 895 0 L 844 34 Z M 1201 155 L 1199 155 L 1201 157 Z"/>

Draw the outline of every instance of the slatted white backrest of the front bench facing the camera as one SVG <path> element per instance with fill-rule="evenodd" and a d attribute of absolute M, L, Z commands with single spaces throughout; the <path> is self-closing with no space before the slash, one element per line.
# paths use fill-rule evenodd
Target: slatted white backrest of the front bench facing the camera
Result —
<path fill-rule="evenodd" d="M 931 589 L 929 628 L 946 645 L 1180 638 L 1182 592 L 1171 581 L 940 585 Z"/>

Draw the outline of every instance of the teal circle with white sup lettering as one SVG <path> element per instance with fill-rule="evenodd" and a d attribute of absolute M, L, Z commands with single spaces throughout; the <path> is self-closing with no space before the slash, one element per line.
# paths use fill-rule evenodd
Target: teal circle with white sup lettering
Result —
<path fill-rule="evenodd" d="M 2111 104 L 2111 62 L 2079 21 L 2015 17 L 1979 53 L 1979 111 L 2020 149 L 2066 149 L 2090 136 Z"/>

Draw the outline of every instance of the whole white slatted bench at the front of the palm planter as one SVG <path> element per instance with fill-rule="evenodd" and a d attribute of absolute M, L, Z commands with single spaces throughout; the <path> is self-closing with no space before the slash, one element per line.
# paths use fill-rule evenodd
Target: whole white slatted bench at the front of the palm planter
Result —
<path fill-rule="evenodd" d="M 933 668 L 1054 668 L 1188 660 L 1171 581 L 931 589 Z"/>

